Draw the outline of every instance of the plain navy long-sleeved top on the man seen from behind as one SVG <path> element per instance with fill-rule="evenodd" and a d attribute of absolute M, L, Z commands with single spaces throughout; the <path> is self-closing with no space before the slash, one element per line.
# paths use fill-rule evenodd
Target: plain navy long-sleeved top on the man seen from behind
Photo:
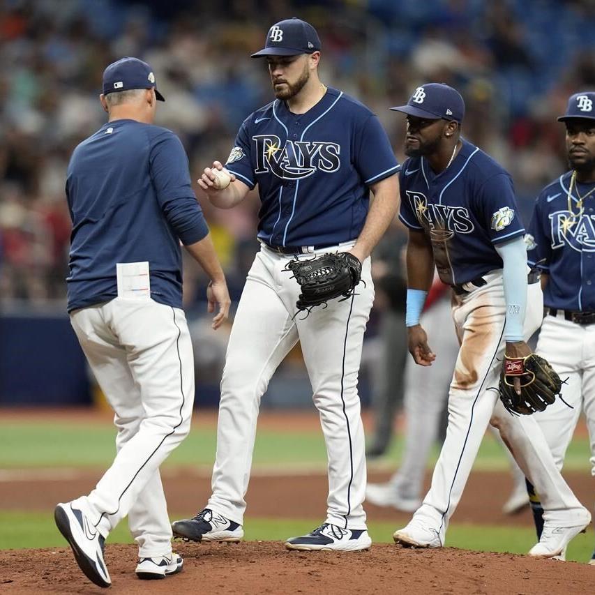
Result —
<path fill-rule="evenodd" d="M 66 196 L 68 311 L 113 299 L 116 264 L 144 261 L 151 298 L 181 307 L 179 240 L 195 243 L 209 229 L 174 133 L 134 120 L 106 123 L 70 158 Z"/>

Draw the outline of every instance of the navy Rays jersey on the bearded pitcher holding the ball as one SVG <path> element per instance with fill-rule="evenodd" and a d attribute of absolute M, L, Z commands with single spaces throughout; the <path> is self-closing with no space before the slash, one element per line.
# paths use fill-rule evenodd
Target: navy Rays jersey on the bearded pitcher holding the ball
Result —
<path fill-rule="evenodd" d="M 248 116 L 225 167 L 250 188 L 258 184 L 258 237 L 274 246 L 356 239 L 368 186 L 399 169 L 377 117 L 336 89 L 306 114 L 275 100 Z"/>

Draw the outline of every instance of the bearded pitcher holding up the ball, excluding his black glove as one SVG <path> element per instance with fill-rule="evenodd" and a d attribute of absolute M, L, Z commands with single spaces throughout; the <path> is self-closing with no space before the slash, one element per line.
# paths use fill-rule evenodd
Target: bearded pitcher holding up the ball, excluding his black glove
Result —
<path fill-rule="evenodd" d="M 234 181 L 216 189 L 209 167 L 199 181 L 224 209 L 258 185 L 262 246 L 229 338 L 213 495 L 193 519 L 173 524 L 174 535 L 194 541 L 242 538 L 260 398 L 299 341 L 326 440 L 329 497 L 322 525 L 289 539 L 287 548 L 363 550 L 371 543 L 357 376 L 374 297 L 369 255 L 396 215 L 399 165 L 377 117 L 319 80 L 320 49 L 314 27 L 299 19 L 269 29 L 253 57 L 266 58 L 276 99 L 243 122 L 225 166 Z M 363 283 L 349 299 L 296 315 L 300 289 L 286 265 L 336 251 L 359 259 Z"/>

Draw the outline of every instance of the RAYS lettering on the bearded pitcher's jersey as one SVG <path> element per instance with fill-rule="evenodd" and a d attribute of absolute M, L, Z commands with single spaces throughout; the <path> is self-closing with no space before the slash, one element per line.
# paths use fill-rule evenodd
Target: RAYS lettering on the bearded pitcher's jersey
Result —
<path fill-rule="evenodd" d="M 282 143 L 277 135 L 255 135 L 255 174 L 272 172 L 284 180 L 299 180 L 314 172 L 336 172 L 341 147 L 335 142 L 291 141 Z"/>

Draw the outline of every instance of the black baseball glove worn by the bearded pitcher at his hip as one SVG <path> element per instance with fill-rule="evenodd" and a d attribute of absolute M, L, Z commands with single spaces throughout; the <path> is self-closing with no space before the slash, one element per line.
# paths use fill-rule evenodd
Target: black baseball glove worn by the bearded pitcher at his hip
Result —
<path fill-rule="evenodd" d="M 348 252 L 290 260 L 285 270 L 294 273 L 301 287 L 296 302 L 298 310 L 308 310 L 308 313 L 315 306 L 326 306 L 329 299 L 352 296 L 361 279 L 361 262 Z"/>

